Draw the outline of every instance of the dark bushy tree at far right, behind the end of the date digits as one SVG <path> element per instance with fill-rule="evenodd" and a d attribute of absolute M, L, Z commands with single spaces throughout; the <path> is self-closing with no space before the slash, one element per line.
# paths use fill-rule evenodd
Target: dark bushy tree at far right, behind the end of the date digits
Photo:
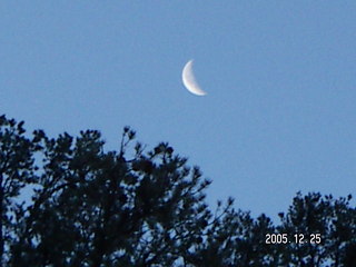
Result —
<path fill-rule="evenodd" d="M 293 200 L 288 214 L 281 217 L 279 233 L 301 234 L 301 243 L 293 241 L 284 251 L 284 264 L 290 266 L 355 266 L 350 250 L 356 244 L 356 209 L 347 198 L 334 199 L 332 195 L 322 196 L 300 192 Z M 316 235 L 319 235 L 319 240 Z M 313 240 L 312 240 L 313 239 Z"/>

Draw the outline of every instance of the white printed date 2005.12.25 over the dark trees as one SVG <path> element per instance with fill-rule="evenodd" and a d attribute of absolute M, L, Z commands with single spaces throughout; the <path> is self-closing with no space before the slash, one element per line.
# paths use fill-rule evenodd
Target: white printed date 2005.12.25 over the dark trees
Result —
<path fill-rule="evenodd" d="M 320 234 L 266 234 L 265 236 L 266 244 L 322 244 Z"/>

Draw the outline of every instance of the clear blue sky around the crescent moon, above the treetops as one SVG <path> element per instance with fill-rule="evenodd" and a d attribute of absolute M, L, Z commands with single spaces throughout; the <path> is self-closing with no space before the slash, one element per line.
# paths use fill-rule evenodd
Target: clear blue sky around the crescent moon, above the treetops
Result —
<path fill-rule="evenodd" d="M 208 199 L 275 217 L 356 191 L 356 1 L 2 1 L 0 113 L 168 141 Z M 181 82 L 185 63 L 201 88 Z"/>

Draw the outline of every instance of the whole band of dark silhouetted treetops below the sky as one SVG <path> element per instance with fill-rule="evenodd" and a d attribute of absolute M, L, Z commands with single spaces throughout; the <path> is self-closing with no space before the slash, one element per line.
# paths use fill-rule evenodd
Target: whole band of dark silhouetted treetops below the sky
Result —
<path fill-rule="evenodd" d="M 356 266 L 352 195 L 297 192 L 278 225 L 233 198 L 211 209 L 198 167 L 135 138 L 107 151 L 97 130 L 28 135 L 1 116 L 1 266 Z"/>

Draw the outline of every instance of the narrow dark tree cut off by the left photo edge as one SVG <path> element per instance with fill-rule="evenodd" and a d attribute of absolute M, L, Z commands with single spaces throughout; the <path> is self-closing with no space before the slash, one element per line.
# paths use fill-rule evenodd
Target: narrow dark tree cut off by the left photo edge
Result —
<path fill-rule="evenodd" d="M 9 259 L 9 245 L 24 216 L 24 202 L 18 201 L 21 189 L 36 181 L 39 140 L 24 137 L 22 126 L 23 121 L 0 117 L 0 266 Z"/>

